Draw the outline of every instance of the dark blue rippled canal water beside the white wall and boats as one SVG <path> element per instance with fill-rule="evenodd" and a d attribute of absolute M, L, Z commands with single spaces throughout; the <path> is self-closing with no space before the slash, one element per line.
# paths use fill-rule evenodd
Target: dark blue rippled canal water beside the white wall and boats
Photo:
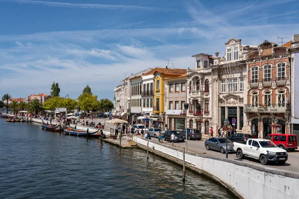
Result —
<path fill-rule="evenodd" d="M 217 168 L 215 168 L 217 169 Z M 225 188 L 141 149 L 0 119 L 1 199 L 232 199 Z"/>

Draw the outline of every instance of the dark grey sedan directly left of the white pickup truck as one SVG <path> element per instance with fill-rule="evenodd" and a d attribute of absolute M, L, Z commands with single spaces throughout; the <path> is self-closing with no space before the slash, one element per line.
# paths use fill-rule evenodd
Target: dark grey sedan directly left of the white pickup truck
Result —
<path fill-rule="evenodd" d="M 221 153 L 226 152 L 226 139 L 225 138 L 218 138 L 218 137 L 211 137 L 208 140 L 204 141 L 204 146 L 206 150 L 215 150 L 220 151 Z M 227 140 L 227 152 L 234 152 L 233 143 Z"/>

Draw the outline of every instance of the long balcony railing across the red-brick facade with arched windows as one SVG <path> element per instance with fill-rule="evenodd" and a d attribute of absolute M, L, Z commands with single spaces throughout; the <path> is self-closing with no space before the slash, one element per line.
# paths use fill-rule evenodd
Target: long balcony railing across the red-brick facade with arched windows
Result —
<path fill-rule="evenodd" d="M 245 104 L 244 112 L 290 112 L 290 106 L 288 104 L 274 104 L 270 106 Z"/>

